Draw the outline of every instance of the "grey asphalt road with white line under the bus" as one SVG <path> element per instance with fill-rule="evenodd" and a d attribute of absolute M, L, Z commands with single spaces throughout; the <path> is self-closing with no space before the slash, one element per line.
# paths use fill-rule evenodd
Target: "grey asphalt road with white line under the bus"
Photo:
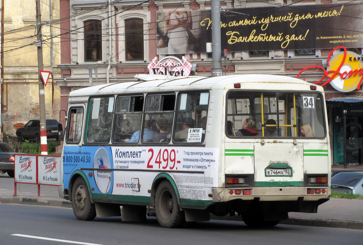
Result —
<path fill-rule="evenodd" d="M 193 227 L 165 229 L 154 217 L 144 223 L 121 217 L 79 221 L 70 208 L 0 204 L 1 245 L 160 245 L 160 244 L 362 244 L 355 229 L 277 225 L 252 229 L 237 221 L 198 222 Z"/>

